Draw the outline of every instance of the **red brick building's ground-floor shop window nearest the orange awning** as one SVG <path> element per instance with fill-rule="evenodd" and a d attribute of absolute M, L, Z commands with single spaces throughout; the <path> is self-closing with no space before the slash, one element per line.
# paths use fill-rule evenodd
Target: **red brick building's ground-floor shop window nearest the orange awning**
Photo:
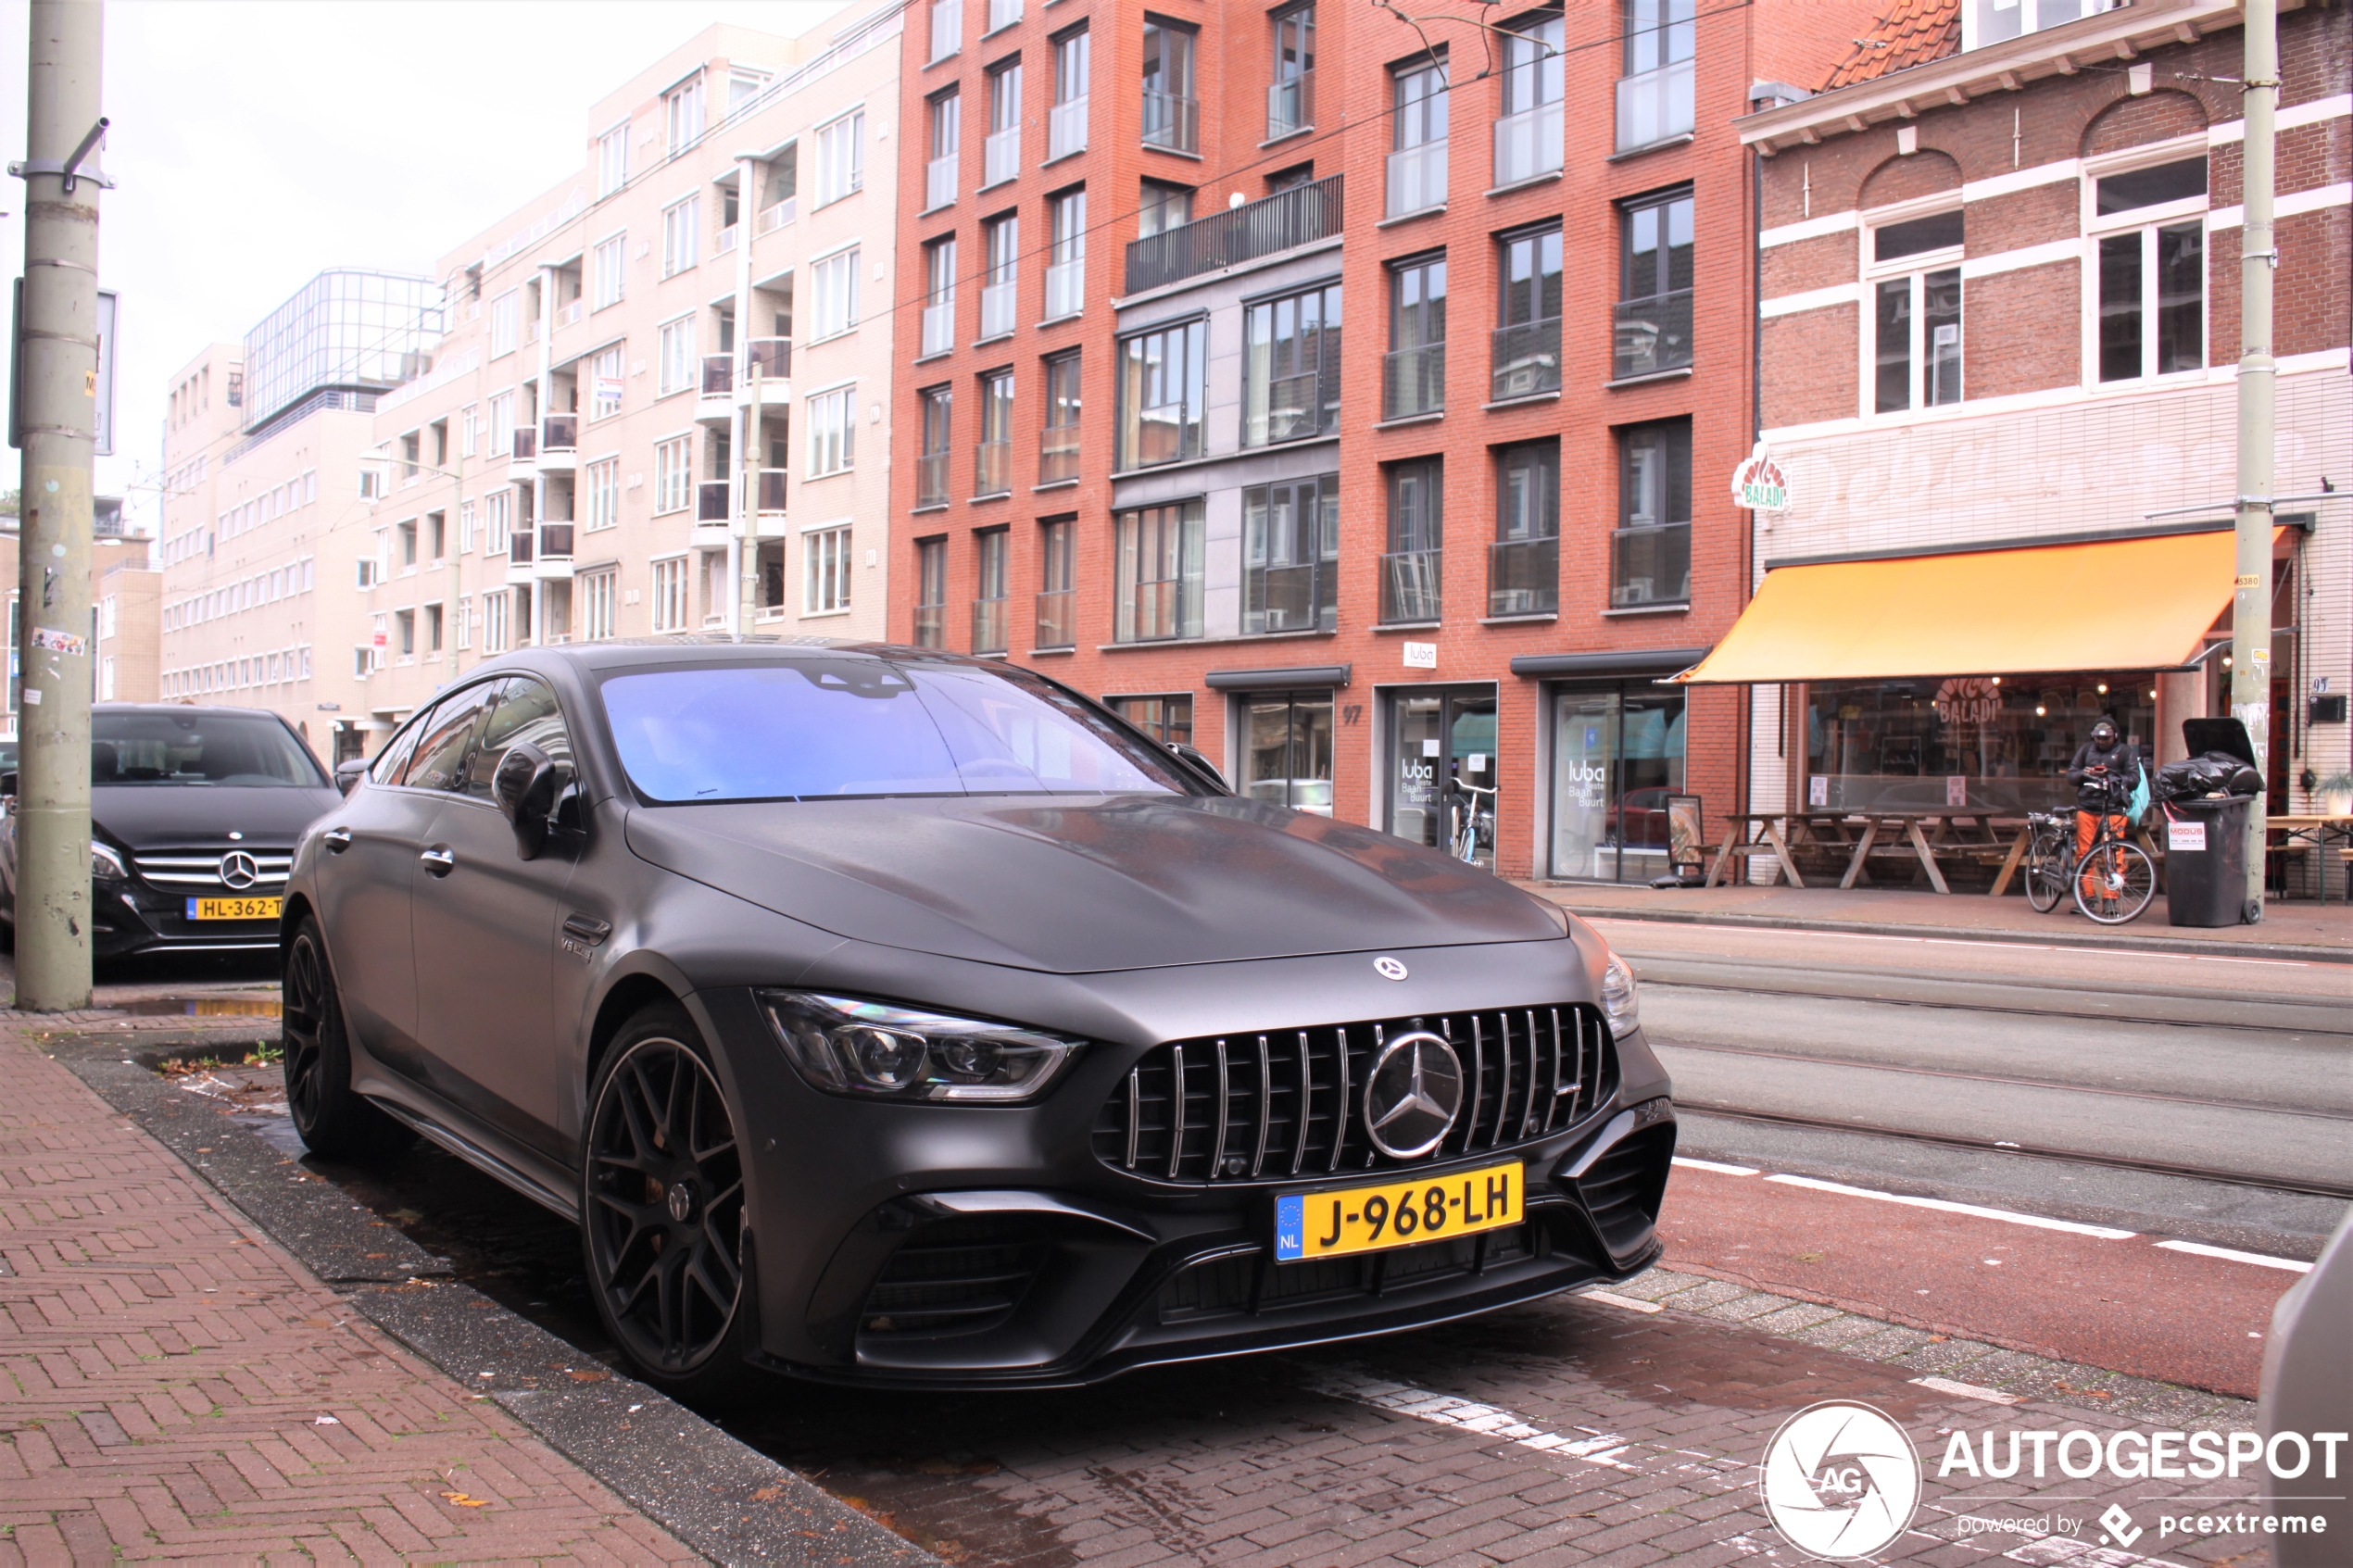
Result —
<path fill-rule="evenodd" d="M 1682 790 L 1682 691 L 1649 684 L 1553 691 L 1553 875 L 1666 875 L 1666 797 Z"/>

